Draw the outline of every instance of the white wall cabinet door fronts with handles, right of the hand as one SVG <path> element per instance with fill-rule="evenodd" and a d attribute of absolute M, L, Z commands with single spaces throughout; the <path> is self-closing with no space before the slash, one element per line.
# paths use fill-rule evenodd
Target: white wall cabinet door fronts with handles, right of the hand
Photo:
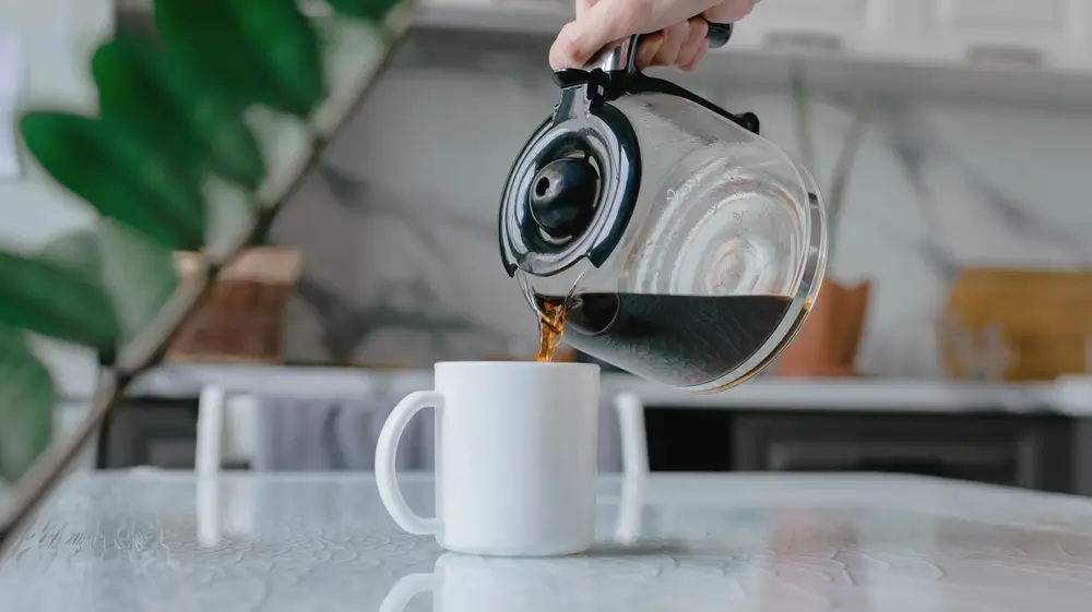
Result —
<path fill-rule="evenodd" d="M 737 43 L 856 59 L 1089 68 L 1092 0 L 770 0 Z"/>

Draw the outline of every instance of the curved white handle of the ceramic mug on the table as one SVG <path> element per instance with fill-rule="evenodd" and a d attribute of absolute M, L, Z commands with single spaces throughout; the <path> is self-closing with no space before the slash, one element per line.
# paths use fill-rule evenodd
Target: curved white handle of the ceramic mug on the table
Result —
<path fill-rule="evenodd" d="M 415 536 L 431 536 L 439 532 L 440 519 L 424 517 L 410 509 L 402 490 L 399 489 L 394 460 L 402 433 L 405 432 L 414 415 L 424 408 L 435 410 L 443 408 L 443 394 L 436 391 L 418 391 L 405 396 L 387 417 L 376 443 L 376 484 L 379 487 L 379 499 L 382 500 L 394 523 Z"/>

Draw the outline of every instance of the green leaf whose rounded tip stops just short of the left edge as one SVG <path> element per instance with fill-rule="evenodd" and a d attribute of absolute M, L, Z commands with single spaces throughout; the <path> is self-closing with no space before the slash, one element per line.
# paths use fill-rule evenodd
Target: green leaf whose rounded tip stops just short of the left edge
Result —
<path fill-rule="evenodd" d="M 20 130 L 46 171 L 102 214 L 174 249 L 204 243 L 200 183 L 154 143 L 63 112 L 28 112 Z"/>

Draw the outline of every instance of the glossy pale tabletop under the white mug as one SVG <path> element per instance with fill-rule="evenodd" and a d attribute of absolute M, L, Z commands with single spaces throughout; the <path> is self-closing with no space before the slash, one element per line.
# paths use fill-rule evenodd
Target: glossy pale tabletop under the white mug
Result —
<path fill-rule="evenodd" d="M 408 475 L 427 511 L 427 475 Z M 887 475 L 604 478 L 598 542 L 444 553 L 363 475 L 76 473 L 0 560 L 36 612 L 1077 612 L 1092 500 Z"/>

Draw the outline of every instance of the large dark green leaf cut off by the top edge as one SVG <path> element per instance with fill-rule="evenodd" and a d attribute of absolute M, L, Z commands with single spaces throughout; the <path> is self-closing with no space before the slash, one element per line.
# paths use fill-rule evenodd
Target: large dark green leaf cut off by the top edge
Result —
<path fill-rule="evenodd" d="M 180 61 L 239 104 L 306 118 L 325 93 L 318 38 L 294 0 L 155 0 L 155 22 Z"/>

